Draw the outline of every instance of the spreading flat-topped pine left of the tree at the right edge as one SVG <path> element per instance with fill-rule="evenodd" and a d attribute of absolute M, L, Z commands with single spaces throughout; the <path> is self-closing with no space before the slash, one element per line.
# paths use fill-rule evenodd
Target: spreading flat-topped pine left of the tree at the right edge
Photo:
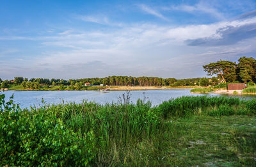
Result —
<path fill-rule="evenodd" d="M 204 70 L 207 72 L 208 76 L 212 76 L 217 74 L 220 76 L 224 83 L 227 81 L 232 82 L 236 81 L 236 63 L 232 61 L 217 61 L 216 63 L 209 63 L 208 65 L 204 65 Z"/>

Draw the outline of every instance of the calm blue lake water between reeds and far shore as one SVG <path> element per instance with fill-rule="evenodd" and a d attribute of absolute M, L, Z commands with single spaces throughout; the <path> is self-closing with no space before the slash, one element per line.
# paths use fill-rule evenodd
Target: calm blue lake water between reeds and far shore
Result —
<path fill-rule="evenodd" d="M 218 94 L 199 94 L 190 93 L 190 90 L 136 90 L 130 91 L 131 101 L 136 102 L 138 99 L 143 99 L 143 93 L 147 100 L 152 102 L 152 105 L 161 104 L 165 100 L 182 96 L 221 96 Z M 6 100 L 14 94 L 14 101 L 20 104 L 20 107 L 42 106 L 42 98 L 46 104 L 57 104 L 61 102 L 82 102 L 83 100 L 105 104 L 107 102 L 118 102 L 119 97 L 125 91 L 4 91 Z M 244 97 L 241 97 L 244 98 Z M 245 98 L 255 98 L 246 96 Z"/>

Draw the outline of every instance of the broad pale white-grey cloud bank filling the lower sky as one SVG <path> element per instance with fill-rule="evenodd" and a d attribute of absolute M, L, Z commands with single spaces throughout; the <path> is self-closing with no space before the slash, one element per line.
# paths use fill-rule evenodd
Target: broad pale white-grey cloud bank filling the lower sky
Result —
<path fill-rule="evenodd" d="M 255 24 L 256 17 L 246 17 L 188 26 L 133 23 L 94 31 L 65 28 L 61 33 L 33 38 L 4 36 L 0 37 L 1 42 L 34 40 L 33 48 L 38 50 L 32 51 L 29 58 L 20 56 L 22 61 L 1 59 L 0 76 L 202 77 L 205 63 L 255 55 Z M 29 54 L 26 48 L 17 51 L 20 55 Z"/>

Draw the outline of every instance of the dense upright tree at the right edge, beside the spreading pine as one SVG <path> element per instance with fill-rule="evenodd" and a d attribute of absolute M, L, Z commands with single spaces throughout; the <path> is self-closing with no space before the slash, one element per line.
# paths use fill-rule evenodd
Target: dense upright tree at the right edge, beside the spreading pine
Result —
<path fill-rule="evenodd" d="M 238 69 L 239 69 L 239 77 L 244 83 L 248 81 L 252 82 L 256 77 L 255 67 L 256 60 L 254 58 L 239 58 Z"/>

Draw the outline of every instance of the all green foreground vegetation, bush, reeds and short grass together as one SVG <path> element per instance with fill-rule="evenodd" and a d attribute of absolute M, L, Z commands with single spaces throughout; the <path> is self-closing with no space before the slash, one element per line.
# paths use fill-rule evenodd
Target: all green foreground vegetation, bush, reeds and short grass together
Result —
<path fill-rule="evenodd" d="M 1 166 L 255 166 L 256 99 L 44 104 L 0 94 Z M 43 102 L 44 103 L 44 102 Z"/>

